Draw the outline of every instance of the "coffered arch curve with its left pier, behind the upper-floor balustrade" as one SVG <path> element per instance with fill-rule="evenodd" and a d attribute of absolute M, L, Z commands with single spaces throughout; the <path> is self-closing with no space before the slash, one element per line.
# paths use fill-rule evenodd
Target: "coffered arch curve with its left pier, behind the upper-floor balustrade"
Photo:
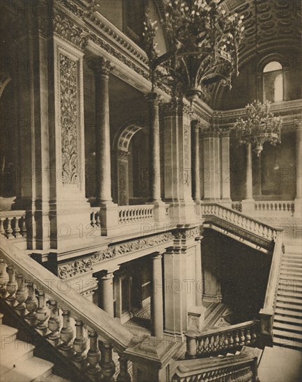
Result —
<path fill-rule="evenodd" d="M 116 198 L 119 206 L 129 204 L 129 144 L 138 131 L 145 129 L 136 122 L 122 126 L 114 140 L 116 153 Z"/>

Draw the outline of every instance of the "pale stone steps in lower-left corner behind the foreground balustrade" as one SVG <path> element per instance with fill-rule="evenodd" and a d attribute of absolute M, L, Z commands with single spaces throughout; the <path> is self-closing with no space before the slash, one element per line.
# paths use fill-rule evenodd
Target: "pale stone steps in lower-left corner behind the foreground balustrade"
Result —
<path fill-rule="evenodd" d="M 2 324 L 0 313 L 0 381 L 68 382 L 52 373 L 53 363 L 33 356 L 34 346 L 18 339 L 18 329 Z"/>

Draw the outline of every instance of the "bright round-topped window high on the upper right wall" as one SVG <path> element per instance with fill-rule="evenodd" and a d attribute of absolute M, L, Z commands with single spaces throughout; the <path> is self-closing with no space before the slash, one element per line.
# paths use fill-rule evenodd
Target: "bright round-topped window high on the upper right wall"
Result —
<path fill-rule="evenodd" d="M 283 67 L 277 61 L 263 69 L 263 101 L 283 101 Z"/>

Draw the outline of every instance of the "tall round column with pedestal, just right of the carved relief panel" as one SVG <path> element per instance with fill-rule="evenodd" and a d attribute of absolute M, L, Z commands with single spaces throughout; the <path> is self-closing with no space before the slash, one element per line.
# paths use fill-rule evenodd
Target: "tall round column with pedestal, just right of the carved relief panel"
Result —
<path fill-rule="evenodd" d="M 102 235 L 118 225 L 117 206 L 111 197 L 111 153 L 109 123 L 109 73 L 113 69 L 103 57 L 88 58 L 95 74 L 95 205 L 100 206 Z"/>

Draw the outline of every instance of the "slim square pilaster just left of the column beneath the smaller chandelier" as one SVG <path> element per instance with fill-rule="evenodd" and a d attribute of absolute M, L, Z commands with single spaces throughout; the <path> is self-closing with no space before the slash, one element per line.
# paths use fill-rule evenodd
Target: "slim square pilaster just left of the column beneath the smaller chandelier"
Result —
<path fill-rule="evenodd" d="M 221 133 L 221 203 L 230 206 L 230 134 Z"/>

